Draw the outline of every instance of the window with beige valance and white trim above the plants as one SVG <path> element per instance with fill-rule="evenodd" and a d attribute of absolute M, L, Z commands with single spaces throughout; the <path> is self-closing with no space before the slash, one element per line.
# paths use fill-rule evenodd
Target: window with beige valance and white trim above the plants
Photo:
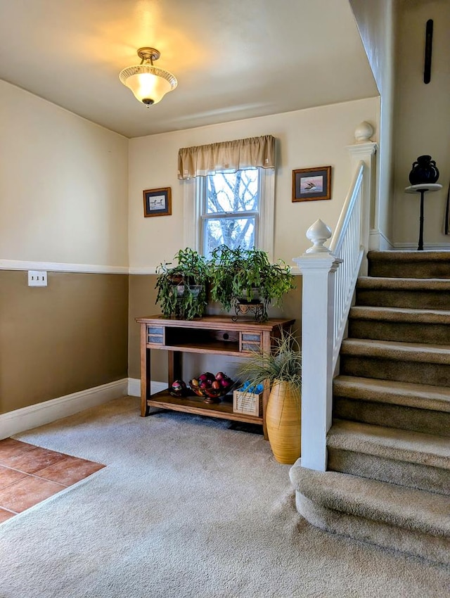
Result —
<path fill-rule="evenodd" d="M 275 138 L 180 148 L 184 246 L 210 255 L 224 243 L 274 253 Z"/>

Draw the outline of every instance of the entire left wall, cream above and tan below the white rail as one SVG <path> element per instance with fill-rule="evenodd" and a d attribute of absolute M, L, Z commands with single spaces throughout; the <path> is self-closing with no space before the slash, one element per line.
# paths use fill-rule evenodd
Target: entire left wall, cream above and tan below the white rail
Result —
<path fill-rule="evenodd" d="M 127 377 L 128 140 L 0 82 L 0 155 L 8 412 Z M 49 286 L 28 287 L 25 269 Z"/>

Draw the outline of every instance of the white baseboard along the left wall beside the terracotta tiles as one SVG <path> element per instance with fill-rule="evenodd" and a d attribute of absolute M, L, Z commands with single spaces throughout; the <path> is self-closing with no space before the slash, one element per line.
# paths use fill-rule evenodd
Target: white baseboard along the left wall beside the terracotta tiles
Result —
<path fill-rule="evenodd" d="M 127 395 L 127 390 L 128 379 L 123 378 L 101 386 L 80 390 L 79 393 L 72 393 L 0 414 L 0 439 L 37 428 L 37 426 L 50 424 L 52 421 L 89 409 L 89 407 L 96 407 L 96 405 L 124 397 Z"/>

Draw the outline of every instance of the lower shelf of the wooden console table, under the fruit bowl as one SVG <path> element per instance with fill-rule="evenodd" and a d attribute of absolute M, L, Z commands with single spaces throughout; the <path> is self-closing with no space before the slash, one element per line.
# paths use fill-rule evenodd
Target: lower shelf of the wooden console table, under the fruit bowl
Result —
<path fill-rule="evenodd" d="M 158 409 L 172 409 L 184 413 L 194 413 L 207 417 L 219 417 L 220 419 L 231 419 L 233 421 L 245 421 L 247 424 L 263 425 L 262 417 L 246 413 L 233 412 L 233 397 L 224 397 L 219 403 L 205 403 L 200 397 L 172 397 L 167 390 L 151 395 L 146 400 L 147 407 L 158 407 Z"/>

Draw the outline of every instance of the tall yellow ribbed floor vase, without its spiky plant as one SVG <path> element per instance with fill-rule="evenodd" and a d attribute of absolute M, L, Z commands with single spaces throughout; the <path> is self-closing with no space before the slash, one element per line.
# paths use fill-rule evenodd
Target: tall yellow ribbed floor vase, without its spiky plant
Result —
<path fill-rule="evenodd" d="M 278 463 L 292 465 L 300 457 L 300 390 L 290 383 L 274 381 L 266 409 L 269 443 Z"/>

